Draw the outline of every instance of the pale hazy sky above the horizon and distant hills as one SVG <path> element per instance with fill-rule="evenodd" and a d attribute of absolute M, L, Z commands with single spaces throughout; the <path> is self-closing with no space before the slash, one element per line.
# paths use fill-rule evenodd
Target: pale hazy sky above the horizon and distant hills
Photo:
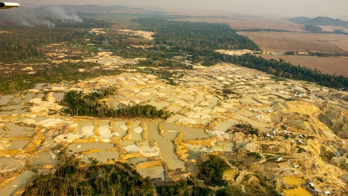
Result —
<path fill-rule="evenodd" d="M 10 0 L 8 0 L 10 1 Z M 163 11 L 221 12 L 274 16 L 328 16 L 348 20 L 348 0 L 12 0 L 23 6 L 45 4 L 126 5 Z M 219 13 L 220 12 L 220 13 Z"/>

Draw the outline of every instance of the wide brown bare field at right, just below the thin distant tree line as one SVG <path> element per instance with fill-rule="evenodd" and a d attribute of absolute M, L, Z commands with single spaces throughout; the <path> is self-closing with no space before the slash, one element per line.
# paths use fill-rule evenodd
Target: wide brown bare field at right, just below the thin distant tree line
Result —
<path fill-rule="evenodd" d="M 303 32 L 238 32 L 263 51 L 319 52 L 348 55 L 348 35 Z"/>

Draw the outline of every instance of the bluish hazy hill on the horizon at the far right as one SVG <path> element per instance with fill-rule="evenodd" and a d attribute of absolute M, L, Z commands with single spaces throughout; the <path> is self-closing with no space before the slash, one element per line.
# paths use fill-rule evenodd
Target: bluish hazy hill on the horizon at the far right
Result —
<path fill-rule="evenodd" d="M 289 21 L 295 22 L 298 24 L 311 24 L 311 25 L 321 25 L 321 26 L 337 26 L 337 27 L 346 27 L 348 28 L 348 22 L 341 19 L 333 19 L 329 17 L 316 17 L 316 18 L 308 18 L 308 17 L 295 17 L 288 18 Z"/>

